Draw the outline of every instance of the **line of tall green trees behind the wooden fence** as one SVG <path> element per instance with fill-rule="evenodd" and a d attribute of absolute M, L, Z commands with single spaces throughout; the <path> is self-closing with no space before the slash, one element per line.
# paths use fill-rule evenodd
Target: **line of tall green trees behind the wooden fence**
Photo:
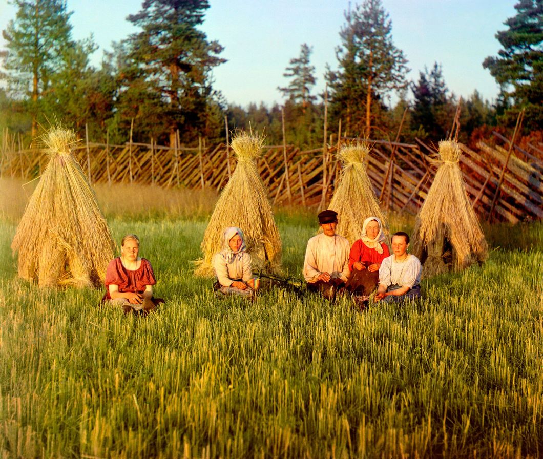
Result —
<path fill-rule="evenodd" d="M 326 90 L 315 93 L 312 47 L 302 43 L 278 89 L 282 105 L 242 107 L 213 88 L 213 69 L 225 62 L 223 47 L 202 32 L 207 0 L 147 0 L 127 20 L 137 32 L 105 52 L 96 68 L 92 37 L 72 37 L 65 0 L 14 0 L 16 17 L 3 30 L 0 51 L 0 124 L 35 138 L 41 127 L 68 121 L 92 139 L 173 144 L 224 140 L 229 129 L 265 131 L 269 143 L 314 147 L 323 141 L 324 112 L 342 136 L 387 138 L 401 125 L 401 139 L 439 141 L 449 134 L 459 99 L 446 86 L 439 62 L 408 81 L 408 61 L 392 39 L 392 21 L 381 0 L 363 0 L 345 11 L 336 48 L 336 70 L 327 66 Z M 514 125 L 525 110 L 524 129 L 543 121 L 543 0 L 520 0 L 502 49 L 482 62 L 500 85 L 494 104 L 475 91 L 460 104 L 461 140 L 483 136 L 496 125 Z M 392 92 L 399 96 L 387 102 Z M 325 107 L 326 106 L 326 107 Z M 105 139 L 103 139 L 105 140 Z"/>

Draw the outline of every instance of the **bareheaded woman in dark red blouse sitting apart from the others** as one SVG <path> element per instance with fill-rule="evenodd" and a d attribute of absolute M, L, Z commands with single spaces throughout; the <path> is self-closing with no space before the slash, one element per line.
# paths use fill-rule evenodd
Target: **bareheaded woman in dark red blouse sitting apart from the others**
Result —
<path fill-rule="evenodd" d="M 122 305 L 125 313 L 131 309 L 147 313 L 163 303 L 162 299 L 153 298 L 153 267 L 149 260 L 138 256 L 139 251 L 138 237 L 127 234 L 121 241 L 121 256 L 110 261 L 105 273 L 104 301 Z"/>

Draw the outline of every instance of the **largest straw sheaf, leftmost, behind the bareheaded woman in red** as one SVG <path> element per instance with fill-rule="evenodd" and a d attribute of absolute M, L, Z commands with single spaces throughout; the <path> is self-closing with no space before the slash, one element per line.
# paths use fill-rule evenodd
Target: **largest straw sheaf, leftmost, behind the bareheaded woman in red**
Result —
<path fill-rule="evenodd" d="M 52 128 L 43 142 L 49 164 L 11 243 L 14 253 L 18 251 L 18 273 L 43 287 L 99 286 L 115 244 L 89 181 L 72 153 L 75 134 Z"/>

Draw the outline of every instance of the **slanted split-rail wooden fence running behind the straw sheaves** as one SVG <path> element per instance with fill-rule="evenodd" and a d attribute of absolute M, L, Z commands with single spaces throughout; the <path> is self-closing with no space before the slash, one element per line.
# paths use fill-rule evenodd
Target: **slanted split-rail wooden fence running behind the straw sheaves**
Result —
<path fill-rule="evenodd" d="M 509 140 L 495 133 L 495 144 L 477 149 L 461 144 L 466 192 L 482 219 L 517 223 L 543 218 L 543 145 L 518 146 L 509 155 Z M 9 140 L 9 141 L 8 141 Z M 349 139 L 342 139 L 348 141 Z M 415 214 L 426 198 L 436 167 L 428 161 L 435 149 L 417 140 L 399 143 L 375 140 L 366 168 L 384 210 Z M 301 151 L 292 146 L 268 146 L 257 168 L 271 202 L 323 207 L 330 202 L 341 172 L 339 143 Z M 21 148 L 15 137 L 3 136 L 0 175 L 32 180 L 47 165 L 40 149 Z M 220 191 L 235 169 L 236 159 L 224 143 L 174 148 L 154 143 L 124 145 L 87 143 L 77 158 L 92 183 L 136 183 L 163 187 Z M 503 175 L 503 178 L 502 178 Z"/>

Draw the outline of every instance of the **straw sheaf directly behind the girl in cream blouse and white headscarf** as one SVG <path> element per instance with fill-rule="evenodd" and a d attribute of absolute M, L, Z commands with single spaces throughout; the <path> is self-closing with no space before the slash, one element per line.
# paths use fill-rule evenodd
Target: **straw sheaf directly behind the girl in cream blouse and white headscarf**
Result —
<path fill-rule="evenodd" d="M 223 247 L 225 228 L 238 227 L 244 233 L 253 269 L 279 273 L 281 238 L 268 193 L 256 169 L 256 158 L 261 156 L 263 139 L 245 132 L 238 133 L 231 142 L 237 155 L 237 166 L 224 187 L 209 225 L 205 230 L 201 249 L 204 259 L 195 262 L 195 274 L 213 276 L 213 255 Z"/>

